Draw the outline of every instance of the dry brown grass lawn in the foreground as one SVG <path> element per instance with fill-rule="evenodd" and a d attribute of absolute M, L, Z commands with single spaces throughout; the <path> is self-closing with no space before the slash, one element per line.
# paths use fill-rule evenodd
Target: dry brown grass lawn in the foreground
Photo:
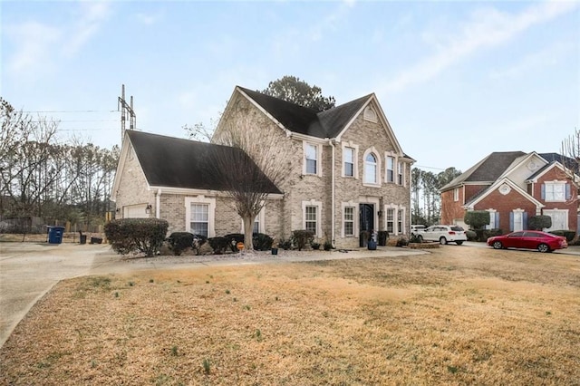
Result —
<path fill-rule="evenodd" d="M 580 384 L 580 259 L 430 255 L 205 267 L 56 285 L 3 384 Z"/>

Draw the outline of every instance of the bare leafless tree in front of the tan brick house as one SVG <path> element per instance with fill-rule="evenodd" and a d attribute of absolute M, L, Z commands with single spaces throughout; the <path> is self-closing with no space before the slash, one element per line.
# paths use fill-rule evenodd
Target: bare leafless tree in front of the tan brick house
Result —
<path fill-rule="evenodd" d="M 215 168 L 242 217 L 247 250 L 254 249 L 252 229 L 256 216 L 266 205 L 266 198 L 279 193 L 276 187 L 284 182 L 290 168 L 290 146 L 280 143 L 281 136 L 287 140 L 285 134 L 282 130 L 268 132 L 266 125 L 258 126 L 252 115 L 249 107 L 238 102 L 227 120 L 222 119 L 213 138 L 214 143 L 236 150 L 218 150 Z"/>

